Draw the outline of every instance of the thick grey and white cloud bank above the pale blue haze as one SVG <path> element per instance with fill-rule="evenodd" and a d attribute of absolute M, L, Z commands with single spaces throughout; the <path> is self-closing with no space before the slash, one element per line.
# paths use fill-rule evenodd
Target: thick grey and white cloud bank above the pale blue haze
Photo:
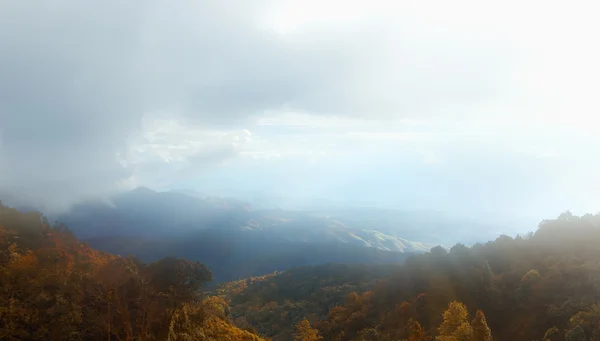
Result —
<path fill-rule="evenodd" d="M 0 190 L 64 206 L 240 156 L 446 160 L 457 122 L 505 124 L 499 144 L 521 125 L 591 132 L 590 6 L 2 2 Z"/>

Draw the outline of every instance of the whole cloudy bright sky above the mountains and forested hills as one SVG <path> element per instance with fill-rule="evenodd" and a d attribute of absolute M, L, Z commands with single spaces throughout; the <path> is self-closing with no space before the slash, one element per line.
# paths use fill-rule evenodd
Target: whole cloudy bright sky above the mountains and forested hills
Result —
<path fill-rule="evenodd" d="M 597 6 L 0 1 L 0 192 L 598 212 Z"/>

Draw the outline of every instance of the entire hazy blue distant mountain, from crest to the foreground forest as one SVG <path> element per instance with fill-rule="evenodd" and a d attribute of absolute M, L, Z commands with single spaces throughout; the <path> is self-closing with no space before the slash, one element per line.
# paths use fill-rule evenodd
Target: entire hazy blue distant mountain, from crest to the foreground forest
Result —
<path fill-rule="evenodd" d="M 167 255 L 202 261 L 217 281 L 302 265 L 395 263 L 433 246 L 319 213 L 252 210 L 232 198 L 148 188 L 75 205 L 58 221 L 108 252 L 147 262 Z"/>

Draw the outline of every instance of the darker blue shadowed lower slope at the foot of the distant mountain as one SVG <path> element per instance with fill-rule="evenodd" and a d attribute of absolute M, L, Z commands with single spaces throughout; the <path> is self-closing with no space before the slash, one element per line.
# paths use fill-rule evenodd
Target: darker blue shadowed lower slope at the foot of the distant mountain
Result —
<path fill-rule="evenodd" d="M 273 242 L 261 240 L 260 236 L 212 232 L 201 231 L 182 238 L 160 240 L 107 237 L 88 241 L 96 249 L 134 255 L 145 262 L 155 261 L 164 255 L 199 260 L 213 271 L 215 282 L 260 276 L 307 265 L 392 264 L 402 262 L 410 255 L 343 243 Z"/>

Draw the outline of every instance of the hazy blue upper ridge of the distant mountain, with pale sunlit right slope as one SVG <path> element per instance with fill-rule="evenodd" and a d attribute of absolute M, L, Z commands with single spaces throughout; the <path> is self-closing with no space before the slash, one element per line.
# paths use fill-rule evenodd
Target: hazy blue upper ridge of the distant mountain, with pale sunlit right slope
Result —
<path fill-rule="evenodd" d="M 271 242 L 345 243 L 394 252 L 425 252 L 431 244 L 372 229 L 350 228 L 318 213 L 252 210 L 233 198 L 198 198 L 181 191 L 156 192 L 140 187 L 114 196 L 110 203 L 75 205 L 58 220 L 81 238 L 161 237 L 199 231 L 250 234 Z"/>

